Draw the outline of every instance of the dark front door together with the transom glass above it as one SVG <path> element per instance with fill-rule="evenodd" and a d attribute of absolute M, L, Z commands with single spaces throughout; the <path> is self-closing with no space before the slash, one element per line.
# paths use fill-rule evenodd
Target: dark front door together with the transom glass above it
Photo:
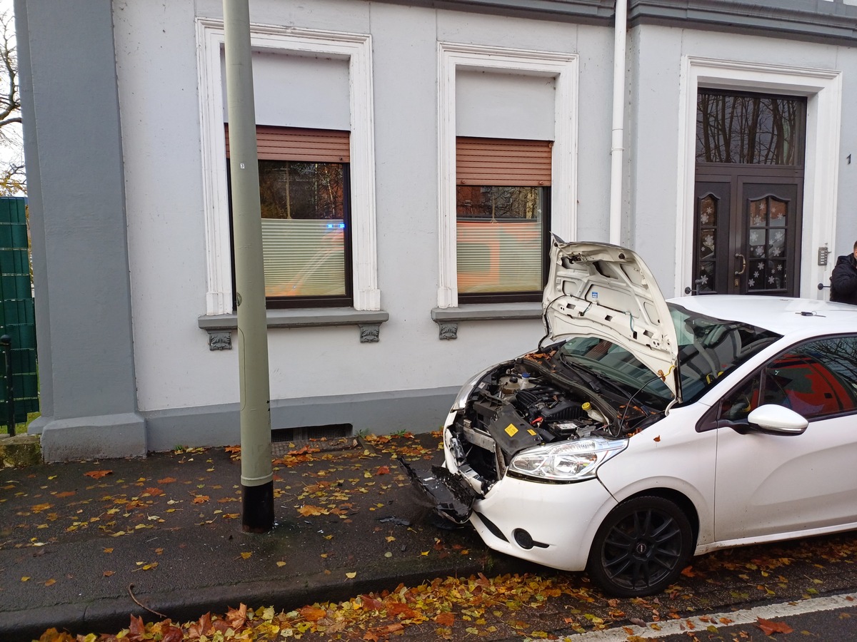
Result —
<path fill-rule="evenodd" d="M 686 294 L 796 296 L 806 99 L 701 89 Z"/>

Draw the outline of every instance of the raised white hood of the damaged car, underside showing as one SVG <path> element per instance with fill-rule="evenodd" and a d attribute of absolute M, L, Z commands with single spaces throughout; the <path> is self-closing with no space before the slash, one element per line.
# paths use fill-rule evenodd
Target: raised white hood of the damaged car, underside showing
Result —
<path fill-rule="evenodd" d="M 633 354 L 680 401 L 678 340 L 667 301 L 643 259 L 608 243 L 554 236 L 542 310 L 555 341 L 595 336 Z"/>

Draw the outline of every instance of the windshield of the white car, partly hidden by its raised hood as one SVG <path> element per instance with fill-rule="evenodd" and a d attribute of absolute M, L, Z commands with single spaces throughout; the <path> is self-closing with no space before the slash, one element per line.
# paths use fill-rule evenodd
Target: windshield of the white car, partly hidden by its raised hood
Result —
<path fill-rule="evenodd" d="M 780 338 L 752 324 L 708 317 L 673 303 L 667 305 L 679 342 L 683 403 L 697 401 L 720 377 Z M 620 388 L 650 406 L 665 407 L 673 399 L 667 385 L 633 354 L 604 339 L 572 338 L 562 344 L 559 356 L 566 365 L 589 372 L 601 383 Z"/>

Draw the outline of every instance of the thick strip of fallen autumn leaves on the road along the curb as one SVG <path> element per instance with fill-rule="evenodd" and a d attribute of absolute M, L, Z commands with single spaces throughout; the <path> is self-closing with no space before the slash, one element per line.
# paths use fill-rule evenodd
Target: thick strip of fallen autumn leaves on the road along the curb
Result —
<path fill-rule="evenodd" d="M 805 555 L 820 553 L 842 562 L 851 556 L 853 549 L 843 542 L 821 544 L 817 549 L 806 550 Z M 776 551 L 775 551 L 776 552 Z M 741 590 L 755 589 L 757 598 L 769 594 L 767 585 L 787 586 L 788 578 L 777 570 L 800 563 L 787 557 L 764 556 L 749 561 L 728 561 L 708 556 L 699 568 L 688 567 L 686 575 L 698 576 L 718 573 L 722 569 L 737 571 L 746 579 Z M 814 565 L 824 568 L 823 565 Z M 754 581 L 761 582 L 751 586 Z M 818 586 L 824 580 L 809 579 Z M 811 597 L 815 589 L 808 588 L 802 597 Z M 566 639 L 572 633 L 621 627 L 623 624 L 642 625 L 650 622 L 658 630 L 658 621 L 681 620 L 688 616 L 680 612 L 682 601 L 692 596 L 682 586 L 673 586 L 664 595 L 648 599 L 618 600 L 601 596 L 597 591 L 582 585 L 576 574 L 554 576 L 505 575 L 487 578 L 436 579 L 420 586 L 399 586 L 395 591 L 370 593 L 339 603 L 315 603 L 289 612 L 276 612 L 272 607 L 249 609 L 244 604 L 229 609 L 225 614 L 205 614 L 197 621 L 173 623 L 169 619 L 144 622 L 130 618 L 129 627 L 115 634 L 71 636 L 51 629 L 39 642 L 114 642 L 117 640 L 369 640 L 387 639 L 486 639 L 524 641 L 540 639 Z M 676 610 L 673 610 L 676 608 Z M 705 617 L 701 618 L 706 621 Z M 687 621 L 688 640 L 710 638 L 705 633 L 716 633 L 710 621 L 708 629 L 694 630 Z M 729 624 L 721 617 L 719 624 Z M 547 625 L 547 626 L 545 626 Z M 542 627 L 542 628 L 540 628 Z M 776 633 L 791 633 L 787 622 L 758 619 L 758 633 L 740 633 L 735 642 L 770 639 Z M 629 642 L 642 642 L 631 633 Z M 806 633 L 806 632 L 805 632 Z M 651 638 L 649 638 L 651 639 Z M 824 636 L 822 635 L 822 638 Z"/>

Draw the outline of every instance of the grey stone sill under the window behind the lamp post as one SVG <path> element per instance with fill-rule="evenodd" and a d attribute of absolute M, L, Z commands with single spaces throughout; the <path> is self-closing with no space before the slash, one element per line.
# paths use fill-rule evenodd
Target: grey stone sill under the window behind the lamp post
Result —
<path fill-rule="evenodd" d="M 379 340 L 381 324 L 390 315 L 383 310 L 355 310 L 351 307 L 298 308 L 294 310 L 268 310 L 268 328 L 319 328 L 333 325 L 357 325 L 360 342 L 374 343 Z M 230 350 L 232 330 L 237 330 L 238 315 L 203 315 L 197 319 L 202 330 L 208 332 L 208 348 Z"/>

